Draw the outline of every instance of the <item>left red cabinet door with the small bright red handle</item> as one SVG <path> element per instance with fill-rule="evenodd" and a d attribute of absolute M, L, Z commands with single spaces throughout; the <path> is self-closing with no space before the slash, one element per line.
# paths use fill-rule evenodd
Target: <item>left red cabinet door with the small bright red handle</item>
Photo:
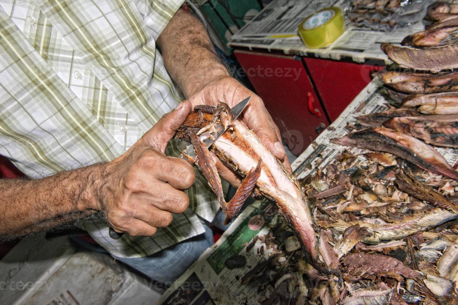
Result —
<path fill-rule="evenodd" d="M 299 155 L 328 125 L 304 65 L 293 56 L 235 50 L 289 149 Z"/>

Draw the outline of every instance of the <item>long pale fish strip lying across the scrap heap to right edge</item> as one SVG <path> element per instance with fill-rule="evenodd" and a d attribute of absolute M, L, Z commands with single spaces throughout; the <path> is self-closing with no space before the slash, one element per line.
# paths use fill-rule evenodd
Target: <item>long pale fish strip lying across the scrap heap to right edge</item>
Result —
<path fill-rule="evenodd" d="M 453 212 L 436 208 L 425 212 L 423 215 L 406 216 L 402 220 L 396 220 L 391 223 L 384 222 L 381 219 L 373 221 L 374 219 L 365 218 L 354 221 L 338 220 L 333 223 L 319 221 L 319 224 L 323 228 L 334 228 L 340 232 L 344 232 L 350 225 L 360 225 L 365 227 L 370 234 L 363 242 L 376 245 L 380 241 L 399 240 L 420 231 L 431 230 L 457 218 L 458 215 Z"/>

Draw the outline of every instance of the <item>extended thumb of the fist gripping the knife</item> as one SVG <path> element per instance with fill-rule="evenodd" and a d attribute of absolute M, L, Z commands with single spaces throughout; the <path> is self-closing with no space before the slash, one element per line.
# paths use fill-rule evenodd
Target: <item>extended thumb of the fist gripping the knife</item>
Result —
<path fill-rule="evenodd" d="M 159 121 L 143 135 L 142 141 L 148 146 L 164 152 L 176 131 L 191 112 L 191 102 L 183 101 L 174 110 L 164 114 Z"/>

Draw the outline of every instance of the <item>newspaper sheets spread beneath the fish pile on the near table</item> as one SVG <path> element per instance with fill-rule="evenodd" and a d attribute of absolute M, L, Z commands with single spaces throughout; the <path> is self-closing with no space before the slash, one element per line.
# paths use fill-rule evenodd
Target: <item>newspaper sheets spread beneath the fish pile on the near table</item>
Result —
<path fill-rule="evenodd" d="M 335 156 L 348 149 L 329 140 L 348 134 L 345 128 L 355 123 L 354 117 L 388 109 L 381 92 L 381 83 L 373 80 L 360 92 L 342 114 L 294 161 L 292 168 L 298 178 L 310 175 L 335 161 Z M 458 154 L 452 148 L 435 147 L 450 164 Z M 363 159 L 361 159 L 363 160 Z M 240 279 L 265 261 L 271 254 L 264 243 L 254 239 L 267 235 L 276 223 L 276 208 L 267 201 L 248 206 L 212 247 L 165 292 L 158 304 L 258 304 L 258 292 L 249 285 L 240 285 Z M 253 245 L 253 242 L 254 245 Z M 248 251 L 247 251 L 247 248 Z M 241 259 L 243 268 L 229 269 L 227 259 Z"/>

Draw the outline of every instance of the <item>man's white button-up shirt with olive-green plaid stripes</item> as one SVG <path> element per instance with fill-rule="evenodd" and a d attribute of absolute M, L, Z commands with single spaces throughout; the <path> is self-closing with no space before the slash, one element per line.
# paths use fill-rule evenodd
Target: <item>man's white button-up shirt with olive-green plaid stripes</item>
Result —
<path fill-rule="evenodd" d="M 182 100 L 155 43 L 182 2 L 0 1 L 0 155 L 37 179 L 129 149 Z M 179 153 L 172 140 L 166 154 Z M 219 203 L 197 170 L 187 192 L 190 208 L 152 237 L 82 227 L 114 256 L 148 256 L 202 234 L 198 216 L 213 220 Z"/>

